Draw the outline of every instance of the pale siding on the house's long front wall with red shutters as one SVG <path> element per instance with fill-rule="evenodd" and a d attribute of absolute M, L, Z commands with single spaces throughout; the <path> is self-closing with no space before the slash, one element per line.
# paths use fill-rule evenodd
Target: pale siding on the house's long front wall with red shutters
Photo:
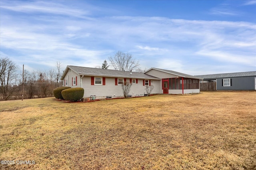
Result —
<path fill-rule="evenodd" d="M 106 85 L 91 85 L 92 76 L 82 77 L 82 87 L 84 88 L 84 97 L 96 95 L 96 97 L 105 96 L 123 96 L 122 86 L 115 85 L 115 78 L 118 77 L 105 77 Z M 96 76 L 98 77 L 98 76 Z M 126 78 L 130 82 L 130 78 Z M 159 93 L 160 80 L 151 80 L 151 85 L 154 85 L 152 94 Z M 146 87 L 143 86 L 143 79 L 138 79 L 138 83 L 133 83 L 129 95 L 143 95 L 146 94 Z"/>

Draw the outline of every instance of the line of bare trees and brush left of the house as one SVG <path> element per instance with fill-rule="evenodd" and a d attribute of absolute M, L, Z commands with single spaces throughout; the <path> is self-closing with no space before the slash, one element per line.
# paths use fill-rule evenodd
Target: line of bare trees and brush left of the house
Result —
<path fill-rule="evenodd" d="M 53 89 L 62 86 L 63 71 L 58 61 L 56 67 L 48 71 L 24 70 L 24 74 L 18 71 L 16 63 L 8 57 L 0 58 L 0 100 L 21 99 L 22 86 L 24 99 L 53 97 Z"/>

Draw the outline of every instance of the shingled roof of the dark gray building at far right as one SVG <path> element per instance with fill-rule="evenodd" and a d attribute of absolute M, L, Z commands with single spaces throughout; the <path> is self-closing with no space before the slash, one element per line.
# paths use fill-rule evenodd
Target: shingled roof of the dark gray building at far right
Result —
<path fill-rule="evenodd" d="M 228 78 L 228 77 L 248 77 L 248 76 L 256 76 L 256 71 L 239 72 L 239 73 L 196 75 L 196 77 L 201 77 L 203 79 L 217 79 L 217 78 Z"/>

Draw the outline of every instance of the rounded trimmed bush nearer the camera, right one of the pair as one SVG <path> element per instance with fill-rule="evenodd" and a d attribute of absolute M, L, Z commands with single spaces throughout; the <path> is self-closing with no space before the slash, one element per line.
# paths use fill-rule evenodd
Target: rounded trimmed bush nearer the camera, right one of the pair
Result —
<path fill-rule="evenodd" d="M 84 89 L 81 87 L 66 89 L 61 92 L 63 98 L 68 101 L 78 101 L 84 96 Z"/>

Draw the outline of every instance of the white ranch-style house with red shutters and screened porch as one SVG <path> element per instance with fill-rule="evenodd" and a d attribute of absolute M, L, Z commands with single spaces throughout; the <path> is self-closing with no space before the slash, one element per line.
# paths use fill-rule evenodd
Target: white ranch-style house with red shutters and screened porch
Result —
<path fill-rule="evenodd" d="M 176 71 L 150 68 L 144 73 L 68 65 L 61 77 L 63 86 L 84 88 L 84 98 L 123 96 L 122 83 L 132 83 L 130 96 L 146 94 L 146 86 L 154 85 L 151 94 L 200 93 L 201 78 Z"/>

